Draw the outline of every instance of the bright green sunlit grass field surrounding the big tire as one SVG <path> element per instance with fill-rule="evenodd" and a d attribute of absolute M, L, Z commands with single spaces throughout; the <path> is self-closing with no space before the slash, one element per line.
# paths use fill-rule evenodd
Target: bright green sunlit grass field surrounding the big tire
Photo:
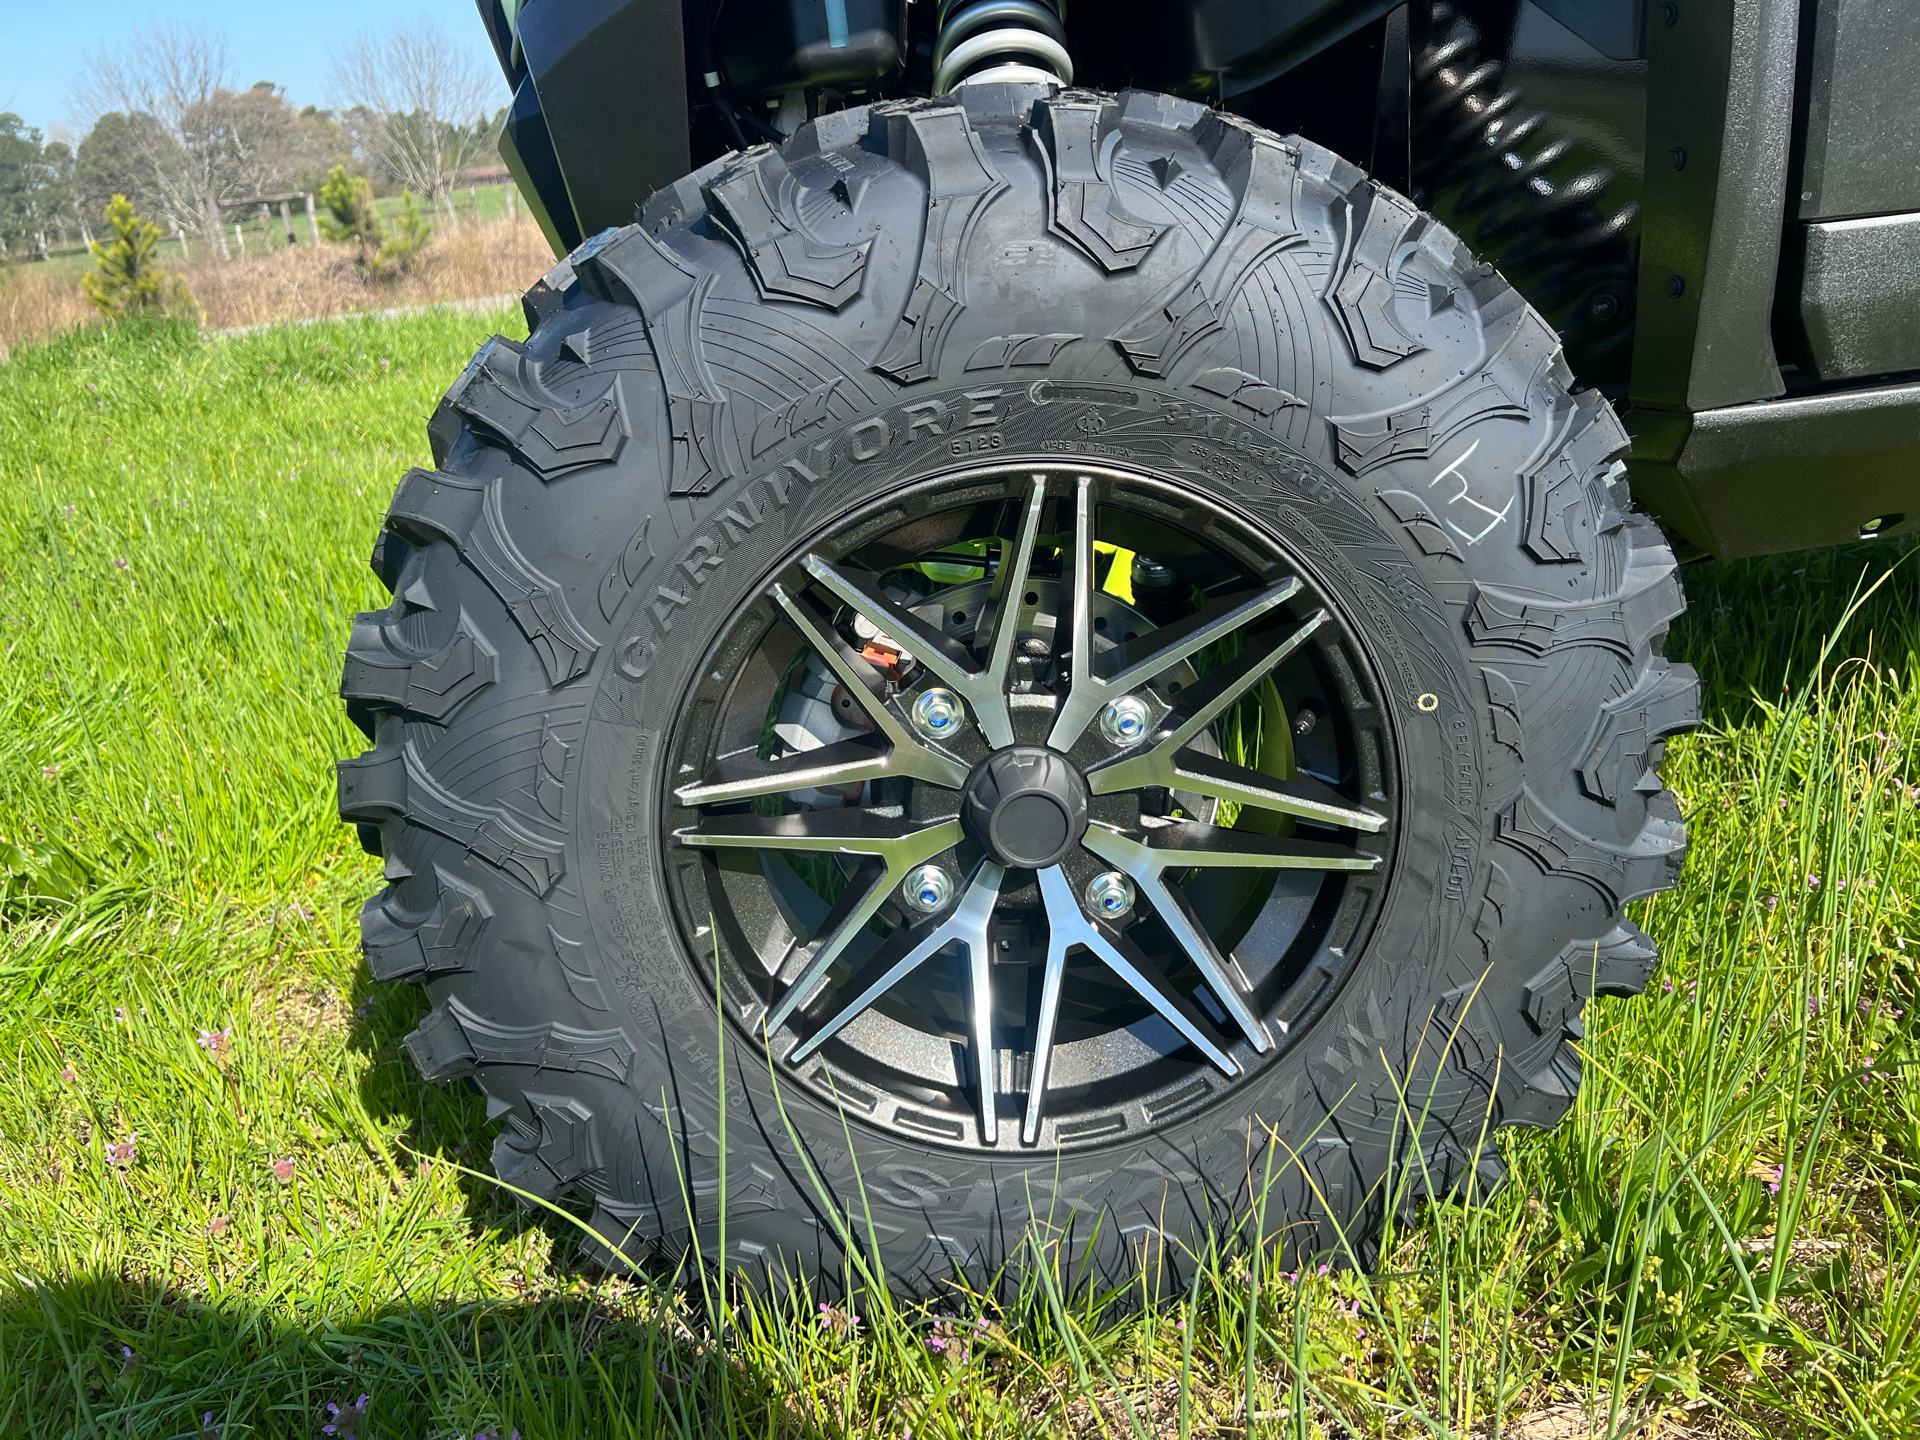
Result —
<path fill-rule="evenodd" d="M 1231 1244 L 1144 1313 L 586 1267 L 397 1052 L 332 689 L 424 419 L 518 319 L 0 369 L 0 1434 L 1524 1436 L 1920 1430 L 1920 568 L 1705 564 L 1693 854 L 1513 1183 L 1375 1277 Z M 1859 582 L 1876 586 L 1845 622 Z M 1830 647 L 1824 637 L 1837 636 Z"/>

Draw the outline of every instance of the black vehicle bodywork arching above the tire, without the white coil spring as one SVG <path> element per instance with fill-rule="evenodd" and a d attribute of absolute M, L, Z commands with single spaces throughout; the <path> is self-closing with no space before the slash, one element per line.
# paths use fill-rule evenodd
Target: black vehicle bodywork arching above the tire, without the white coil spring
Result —
<path fill-rule="evenodd" d="M 935 0 L 478 0 L 557 252 L 812 113 L 931 84 Z M 1561 330 L 1634 495 L 1734 557 L 1920 528 L 1912 0 L 1071 0 L 1075 83 L 1363 161 Z"/>

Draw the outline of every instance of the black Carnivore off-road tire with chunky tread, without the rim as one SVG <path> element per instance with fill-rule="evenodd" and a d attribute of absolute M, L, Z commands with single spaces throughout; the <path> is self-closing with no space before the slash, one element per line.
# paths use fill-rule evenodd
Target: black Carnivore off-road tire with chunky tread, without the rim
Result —
<path fill-rule="evenodd" d="M 1244 1215 L 1269 1137 L 1269 1229 L 1365 1244 L 1409 1160 L 1484 1187 L 1492 1127 L 1565 1114 L 1584 1000 L 1653 972 L 1622 906 L 1676 879 L 1657 764 L 1697 684 L 1661 657 L 1682 595 L 1620 424 L 1452 232 L 1183 100 L 968 86 L 716 161 L 526 319 L 386 515 L 340 814 L 386 860 L 369 968 L 432 1004 L 407 1050 L 486 1092 L 497 1175 L 578 1202 L 603 1258 L 724 1233 L 732 1265 L 831 1279 L 851 1233 L 927 1286 L 1039 1217 L 1117 1277 Z M 1400 756 L 1386 899 L 1309 1031 L 1060 1150 L 776 1092 L 660 837 L 730 614 L 824 526 L 979 457 L 1137 467 L 1279 538 L 1359 622 Z"/>

